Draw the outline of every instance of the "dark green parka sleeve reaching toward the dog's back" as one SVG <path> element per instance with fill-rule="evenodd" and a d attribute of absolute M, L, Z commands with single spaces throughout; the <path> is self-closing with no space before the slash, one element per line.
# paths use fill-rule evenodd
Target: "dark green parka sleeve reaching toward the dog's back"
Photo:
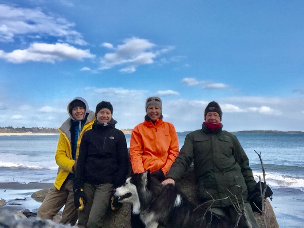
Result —
<path fill-rule="evenodd" d="M 185 138 L 185 143 L 172 164 L 170 170 L 167 172 L 166 178 L 177 180 L 181 178 L 190 167 L 193 161 L 193 142 L 189 134 Z"/>

